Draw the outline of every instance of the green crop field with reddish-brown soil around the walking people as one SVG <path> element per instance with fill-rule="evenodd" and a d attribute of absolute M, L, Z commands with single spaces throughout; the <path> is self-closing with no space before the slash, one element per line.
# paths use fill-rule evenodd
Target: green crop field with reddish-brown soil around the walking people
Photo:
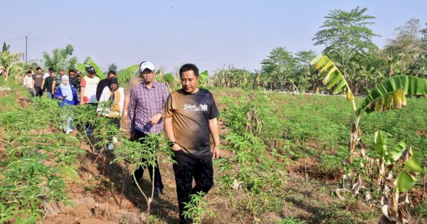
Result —
<path fill-rule="evenodd" d="M 99 131 L 93 137 L 63 134 L 59 114 L 67 112 L 47 98 L 29 100 L 12 83 L 11 90 L 0 92 L 0 223 L 144 220 L 147 203 L 130 184 L 135 164 L 125 155 L 135 152 L 126 132 L 116 133 L 102 118 L 78 107 L 73 111 L 76 125 L 90 120 Z M 343 186 L 354 118 L 345 97 L 210 90 L 221 110 L 224 151 L 214 164 L 215 186 L 193 214 L 201 223 L 378 223 L 382 213 L 376 166 L 357 168 L 365 187 L 359 194 L 336 191 Z M 406 140 L 423 154 L 423 171 L 409 193 L 411 223 L 427 220 L 426 111 L 426 98 L 410 98 L 401 110 L 364 114 L 360 120 L 360 145 L 371 158 L 376 158 L 372 144 L 377 130 L 390 147 Z M 122 146 L 97 153 L 112 135 Z M 176 223 L 172 161 L 167 149 L 158 156 L 165 192 L 152 201 L 149 220 Z M 142 191 L 151 192 L 147 174 Z"/>

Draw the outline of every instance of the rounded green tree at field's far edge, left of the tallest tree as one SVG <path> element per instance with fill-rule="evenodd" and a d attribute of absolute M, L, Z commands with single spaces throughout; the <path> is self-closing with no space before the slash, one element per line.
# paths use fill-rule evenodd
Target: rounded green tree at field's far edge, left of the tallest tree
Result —
<path fill-rule="evenodd" d="M 264 87 L 271 90 L 282 90 L 291 86 L 295 88 L 296 60 L 286 48 L 279 47 L 271 50 L 268 58 L 261 62 L 263 72 L 261 80 Z"/>

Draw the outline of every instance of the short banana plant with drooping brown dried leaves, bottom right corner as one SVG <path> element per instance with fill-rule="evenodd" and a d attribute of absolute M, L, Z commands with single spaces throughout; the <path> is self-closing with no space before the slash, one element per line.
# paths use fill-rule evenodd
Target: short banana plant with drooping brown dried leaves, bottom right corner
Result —
<path fill-rule="evenodd" d="M 378 183 L 383 191 L 381 198 L 382 212 L 390 221 L 397 223 L 408 223 L 410 215 L 406 209 L 408 200 L 408 191 L 415 185 L 417 179 L 414 174 L 422 171 L 421 161 L 423 155 L 420 150 L 410 147 L 407 151 L 404 167 L 394 179 L 393 168 L 406 149 L 406 143 L 400 142 L 393 149 L 387 150 L 386 139 L 382 137 L 381 132 L 375 132 L 374 149 L 376 156 L 379 157 Z M 405 160 L 405 159 L 404 159 Z M 386 176 L 386 178 L 385 178 Z M 390 181 L 386 181 L 390 180 Z M 393 189 L 393 191 L 391 191 Z M 402 194 L 402 195 L 401 195 Z"/>

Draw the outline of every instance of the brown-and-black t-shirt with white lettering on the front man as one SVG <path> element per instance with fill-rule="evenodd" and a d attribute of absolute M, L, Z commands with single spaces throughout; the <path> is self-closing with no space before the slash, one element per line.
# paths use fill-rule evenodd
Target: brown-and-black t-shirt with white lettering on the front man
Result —
<path fill-rule="evenodd" d="M 211 92 L 199 89 L 194 94 L 176 90 L 169 95 L 164 117 L 172 117 L 176 142 L 187 154 L 211 154 L 209 119 L 219 116 Z"/>

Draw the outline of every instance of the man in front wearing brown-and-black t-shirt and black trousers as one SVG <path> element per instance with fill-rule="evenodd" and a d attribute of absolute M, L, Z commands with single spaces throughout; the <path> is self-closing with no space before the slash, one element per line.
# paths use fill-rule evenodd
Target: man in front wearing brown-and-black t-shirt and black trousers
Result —
<path fill-rule="evenodd" d="M 173 166 L 179 223 L 192 223 L 184 218 L 185 203 L 189 203 L 191 194 L 206 194 L 214 185 L 212 159 L 221 154 L 216 119 L 219 112 L 211 92 L 197 87 L 199 69 L 196 65 L 182 65 L 179 76 L 182 89 L 172 92 L 164 106 L 164 130 L 176 161 Z M 214 139 L 212 152 L 209 134 Z"/>

